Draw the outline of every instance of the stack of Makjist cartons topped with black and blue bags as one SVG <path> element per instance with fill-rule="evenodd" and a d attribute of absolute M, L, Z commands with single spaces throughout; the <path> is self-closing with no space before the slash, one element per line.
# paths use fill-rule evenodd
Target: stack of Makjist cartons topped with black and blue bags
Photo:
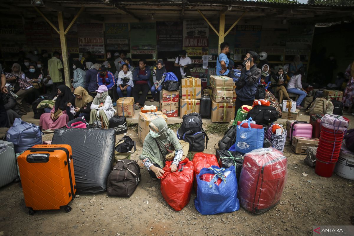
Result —
<path fill-rule="evenodd" d="M 178 117 L 179 85 L 173 72 L 165 74 L 160 92 L 160 111 L 167 117 Z"/>

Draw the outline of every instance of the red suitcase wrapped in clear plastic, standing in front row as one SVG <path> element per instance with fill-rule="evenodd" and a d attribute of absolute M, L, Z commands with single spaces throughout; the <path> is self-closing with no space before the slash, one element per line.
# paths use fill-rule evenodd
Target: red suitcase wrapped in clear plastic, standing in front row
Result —
<path fill-rule="evenodd" d="M 287 159 L 275 148 L 246 153 L 239 181 L 240 205 L 259 214 L 280 201 L 287 179 Z"/>

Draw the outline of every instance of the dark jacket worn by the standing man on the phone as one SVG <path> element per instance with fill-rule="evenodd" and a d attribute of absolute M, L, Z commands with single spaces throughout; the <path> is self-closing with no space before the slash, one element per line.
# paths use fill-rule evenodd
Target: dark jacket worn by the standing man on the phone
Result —
<path fill-rule="evenodd" d="M 240 80 L 245 80 L 246 84 L 240 88 L 235 89 L 237 97 L 241 101 L 254 100 L 257 92 L 258 80 L 261 77 L 261 69 L 257 68 L 256 64 L 246 70 L 246 67 L 242 68 Z"/>

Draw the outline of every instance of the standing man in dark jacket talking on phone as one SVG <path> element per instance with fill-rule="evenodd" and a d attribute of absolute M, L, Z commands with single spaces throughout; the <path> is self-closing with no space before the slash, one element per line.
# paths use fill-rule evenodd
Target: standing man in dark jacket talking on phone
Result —
<path fill-rule="evenodd" d="M 236 82 L 236 102 L 235 102 L 235 117 L 238 109 L 243 105 L 252 106 L 253 100 L 257 92 L 258 80 L 261 77 L 261 69 L 257 68 L 255 60 L 257 53 L 249 51 L 246 54 L 245 61 L 242 63 L 244 68 L 241 70 L 241 76 Z"/>

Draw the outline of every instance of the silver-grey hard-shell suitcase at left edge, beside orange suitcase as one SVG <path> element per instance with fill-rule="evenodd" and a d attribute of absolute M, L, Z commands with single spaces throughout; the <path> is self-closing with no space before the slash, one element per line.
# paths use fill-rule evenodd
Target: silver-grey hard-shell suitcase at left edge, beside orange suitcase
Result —
<path fill-rule="evenodd" d="M 0 187 L 18 179 L 13 143 L 0 141 Z"/>

